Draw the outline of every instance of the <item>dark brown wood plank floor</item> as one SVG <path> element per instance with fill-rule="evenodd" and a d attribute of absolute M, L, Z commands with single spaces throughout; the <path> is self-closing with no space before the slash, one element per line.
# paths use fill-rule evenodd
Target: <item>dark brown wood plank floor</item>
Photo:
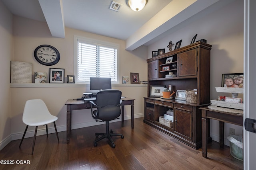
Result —
<path fill-rule="evenodd" d="M 243 162 L 230 155 L 229 147 L 219 148 L 217 142 L 208 144 L 208 158 L 202 150 L 195 150 L 180 141 L 143 123 L 134 120 L 134 130 L 127 120 L 110 123 L 114 133 L 123 133 L 124 139 L 114 137 L 116 148 L 108 140 L 93 146 L 95 132 L 104 132 L 105 125 L 85 127 L 71 131 L 70 143 L 66 144 L 66 131 L 38 136 L 34 154 L 31 155 L 33 138 L 10 142 L 0 151 L 0 160 L 14 160 L 14 164 L 0 164 L 1 170 L 239 170 Z M 18 164 L 28 160 L 29 164 Z M 25 162 L 27 163 L 27 162 Z"/>

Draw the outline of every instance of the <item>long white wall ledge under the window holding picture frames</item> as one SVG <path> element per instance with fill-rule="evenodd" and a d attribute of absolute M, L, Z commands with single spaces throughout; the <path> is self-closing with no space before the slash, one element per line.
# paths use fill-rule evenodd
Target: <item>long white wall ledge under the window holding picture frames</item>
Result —
<path fill-rule="evenodd" d="M 112 84 L 112 87 L 147 87 L 147 84 Z M 90 84 L 75 83 L 10 83 L 10 88 L 44 88 L 44 87 L 90 87 Z"/>

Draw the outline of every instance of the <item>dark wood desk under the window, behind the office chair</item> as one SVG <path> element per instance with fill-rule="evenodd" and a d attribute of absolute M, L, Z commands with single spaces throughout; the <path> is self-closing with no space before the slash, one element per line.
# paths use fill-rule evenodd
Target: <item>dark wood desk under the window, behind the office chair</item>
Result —
<path fill-rule="evenodd" d="M 122 98 L 122 121 L 124 121 L 124 106 L 131 105 L 131 119 L 132 119 L 132 129 L 134 128 L 134 100 L 130 98 Z M 80 109 L 90 109 L 89 100 L 72 100 L 69 99 L 66 101 L 65 105 L 67 105 L 67 143 L 70 141 L 70 131 L 71 131 L 71 115 L 72 110 L 80 110 Z"/>

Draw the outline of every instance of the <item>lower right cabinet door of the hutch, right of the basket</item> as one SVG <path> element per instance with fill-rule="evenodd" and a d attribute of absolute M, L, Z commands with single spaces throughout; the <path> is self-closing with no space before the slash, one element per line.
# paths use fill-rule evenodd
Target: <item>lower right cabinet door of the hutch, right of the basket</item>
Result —
<path fill-rule="evenodd" d="M 192 113 L 175 109 L 175 131 L 192 139 Z"/>

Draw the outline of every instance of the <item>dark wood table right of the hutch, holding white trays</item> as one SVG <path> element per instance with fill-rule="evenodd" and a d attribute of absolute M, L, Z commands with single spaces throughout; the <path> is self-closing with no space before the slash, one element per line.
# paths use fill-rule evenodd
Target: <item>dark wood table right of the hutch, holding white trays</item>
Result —
<path fill-rule="evenodd" d="M 224 146 L 224 122 L 243 126 L 243 115 L 200 107 L 202 109 L 202 154 L 207 158 L 208 123 L 210 119 L 220 121 L 220 147 Z"/>

